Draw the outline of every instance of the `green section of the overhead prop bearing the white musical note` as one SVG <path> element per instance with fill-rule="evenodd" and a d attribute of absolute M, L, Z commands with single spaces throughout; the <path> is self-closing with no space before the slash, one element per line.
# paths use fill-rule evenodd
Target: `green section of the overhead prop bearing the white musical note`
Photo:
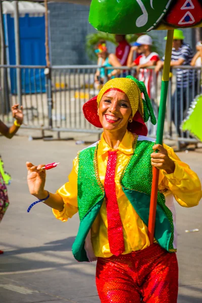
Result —
<path fill-rule="evenodd" d="M 92 0 L 90 24 L 116 34 L 145 32 L 155 28 L 172 0 Z"/>

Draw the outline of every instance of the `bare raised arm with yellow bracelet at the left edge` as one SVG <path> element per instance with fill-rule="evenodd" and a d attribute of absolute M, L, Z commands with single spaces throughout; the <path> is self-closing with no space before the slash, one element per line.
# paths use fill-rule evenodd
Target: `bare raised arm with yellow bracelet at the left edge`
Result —
<path fill-rule="evenodd" d="M 12 106 L 12 115 L 16 119 L 19 126 L 13 124 L 11 127 L 8 127 L 3 121 L 0 120 L 0 133 L 9 139 L 11 139 L 17 133 L 23 122 L 22 106 L 20 109 L 18 107 L 19 104 Z"/>

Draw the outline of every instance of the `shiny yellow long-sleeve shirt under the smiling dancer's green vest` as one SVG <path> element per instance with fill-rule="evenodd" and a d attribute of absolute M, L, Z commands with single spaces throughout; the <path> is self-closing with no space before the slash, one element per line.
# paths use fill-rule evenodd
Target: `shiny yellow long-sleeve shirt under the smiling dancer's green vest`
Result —
<path fill-rule="evenodd" d="M 133 135 L 127 131 L 118 147 L 115 171 L 116 195 L 123 224 L 125 244 L 123 254 L 129 254 L 131 251 L 144 249 L 149 246 L 147 226 L 135 212 L 120 185 L 122 171 L 129 157 L 133 154 L 132 142 Z M 169 157 L 175 162 L 175 171 L 172 174 L 167 174 L 165 171 L 160 170 L 159 189 L 167 189 L 165 196 L 170 196 L 172 193 L 177 202 L 183 207 L 196 206 L 201 198 L 201 184 L 197 175 L 190 170 L 187 164 L 180 161 L 171 147 L 165 144 L 164 147 L 167 149 Z M 112 150 L 112 148 L 106 143 L 104 135 L 102 135 L 97 149 L 97 167 L 99 179 L 103 185 L 109 150 Z M 63 197 L 64 210 L 62 212 L 53 210 L 53 213 L 57 219 L 62 221 L 67 221 L 68 218 L 71 218 L 78 212 L 77 174 L 78 158 L 76 157 L 73 161 L 73 169 L 69 175 L 69 182 L 65 183 L 57 191 Z M 108 242 L 107 227 L 106 201 L 104 200 L 99 214 L 91 227 L 91 243 L 96 257 L 108 258 L 112 256 Z"/>

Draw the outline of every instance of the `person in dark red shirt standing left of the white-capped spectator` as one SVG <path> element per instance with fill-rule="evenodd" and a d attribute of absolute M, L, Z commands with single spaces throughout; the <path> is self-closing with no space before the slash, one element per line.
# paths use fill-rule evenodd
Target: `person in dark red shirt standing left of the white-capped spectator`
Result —
<path fill-rule="evenodd" d="M 126 41 L 126 35 L 115 35 L 115 39 L 119 45 L 116 48 L 116 56 L 122 66 L 127 65 L 127 59 L 130 52 L 130 44 Z"/>

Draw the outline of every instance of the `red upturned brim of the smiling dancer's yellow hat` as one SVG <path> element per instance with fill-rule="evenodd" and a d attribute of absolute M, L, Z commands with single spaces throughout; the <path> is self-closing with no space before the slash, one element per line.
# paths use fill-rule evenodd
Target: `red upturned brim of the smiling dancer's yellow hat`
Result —
<path fill-rule="evenodd" d="M 103 128 L 99 121 L 99 116 L 97 115 L 97 96 L 91 98 L 83 105 L 83 113 L 86 120 L 90 122 L 90 124 L 98 128 Z M 128 123 L 128 130 L 137 135 L 147 135 L 147 127 L 138 111 L 134 115 L 133 121 Z"/>

